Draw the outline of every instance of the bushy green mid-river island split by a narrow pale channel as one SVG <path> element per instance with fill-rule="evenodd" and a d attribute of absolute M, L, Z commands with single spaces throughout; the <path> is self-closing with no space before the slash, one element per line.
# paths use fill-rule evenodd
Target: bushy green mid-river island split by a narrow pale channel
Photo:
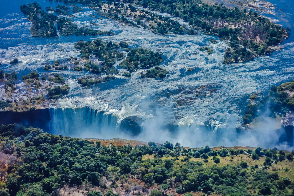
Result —
<path fill-rule="evenodd" d="M 142 73 L 141 77 L 165 77 L 167 71 L 158 67 L 163 61 L 162 53 L 153 52 L 149 49 L 143 48 L 129 48 L 127 42 L 120 42 L 119 44 L 112 43 L 112 41 L 102 41 L 99 38 L 93 41 L 78 41 L 75 44 L 75 48 L 80 51 L 81 58 L 87 59 L 87 62 L 80 68 L 76 68 L 80 71 L 84 67 L 85 71 L 90 71 L 95 74 L 117 74 L 118 70 L 114 65 L 118 62 L 120 67 L 126 69 L 128 72 L 124 72 L 123 76 L 131 76 L 131 73 L 138 69 L 150 69 L 147 70 L 147 74 Z M 122 52 L 120 52 L 120 49 Z M 96 58 L 95 58 L 96 57 Z M 99 60 L 99 62 L 97 62 Z M 95 62 L 93 62 L 95 61 Z M 155 67 L 155 68 L 153 68 Z M 153 69 L 151 69 L 153 68 Z M 104 79 L 91 79 L 89 76 L 80 78 L 78 83 L 82 86 L 90 86 L 103 82 L 104 80 L 114 79 L 107 77 Z"/>

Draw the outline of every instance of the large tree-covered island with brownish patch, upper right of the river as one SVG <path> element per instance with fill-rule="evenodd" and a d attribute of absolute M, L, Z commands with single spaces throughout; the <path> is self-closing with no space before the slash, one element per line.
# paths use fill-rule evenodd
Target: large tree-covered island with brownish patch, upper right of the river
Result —
<path fill-rule="evenodd" d="M 251 10 L 229 8 L 223 4 L 210 6 L 200 0 L 138 0 L 136 3 L 181 17 L 203 33 L 229 40 L 231 49 L 226 50 L 225 64 L 245 62 L 255 55 L 271 53 L 271 46 L 282 43 L 288 37 L 284 28 Z"/>

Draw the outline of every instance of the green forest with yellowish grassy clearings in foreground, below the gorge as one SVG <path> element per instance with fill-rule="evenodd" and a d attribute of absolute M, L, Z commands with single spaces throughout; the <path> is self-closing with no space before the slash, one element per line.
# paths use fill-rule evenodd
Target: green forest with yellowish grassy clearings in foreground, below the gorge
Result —
<path fill-rule="evenodd" d="M 17 124 L 1 125 L 0 136 L 3 196 L 286 196 L 294 190 L 294 152 L 276 148 L 106 144 Z"/>

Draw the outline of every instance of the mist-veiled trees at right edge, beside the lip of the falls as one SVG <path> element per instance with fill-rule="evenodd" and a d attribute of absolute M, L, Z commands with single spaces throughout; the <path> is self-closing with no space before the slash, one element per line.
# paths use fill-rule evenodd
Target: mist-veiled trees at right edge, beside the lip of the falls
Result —
<path fill-rule="evenodd" d="M 269 111 L 269 116 L 286 117 L 294 110 L 294 80 L 285 82 L 280 86 L 272 86 L 265 96 L 253 93 L 249 97 L 249 104 L 244 115 L 244 123 L 248 124 L 258 116 L 263 116 Z"/>

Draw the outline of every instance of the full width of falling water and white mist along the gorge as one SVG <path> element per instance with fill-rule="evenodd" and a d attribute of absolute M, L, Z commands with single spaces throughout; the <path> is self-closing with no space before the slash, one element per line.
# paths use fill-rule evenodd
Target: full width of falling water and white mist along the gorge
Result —
<path fill-rule="evenodd" d="M 119 116 L 122 111 L 105 112 L 83 108 L 50 108 L 50 131 L 56 135 L 80 138 L 123 138 L 145 142 L 179 142 L 183 146 L 260 146 L 291 150 L 293 138 L 282 140 L 287 134 L 277 120 L 264 117 L 250 130 L 237 129 L 210 121 L 190 125 L 169 124 L 168 117 L 157 110 L 156 117 Z M 236 122 L 229 124 L 235 124 Z M 293 127 L 288 129 L 292 131 Z M 290 134 L 291 135 L 291 134 Z M 293 134 L 292 134 L 293 135 Z M 289 141 L 290 140 L 290 141 Z"/>

